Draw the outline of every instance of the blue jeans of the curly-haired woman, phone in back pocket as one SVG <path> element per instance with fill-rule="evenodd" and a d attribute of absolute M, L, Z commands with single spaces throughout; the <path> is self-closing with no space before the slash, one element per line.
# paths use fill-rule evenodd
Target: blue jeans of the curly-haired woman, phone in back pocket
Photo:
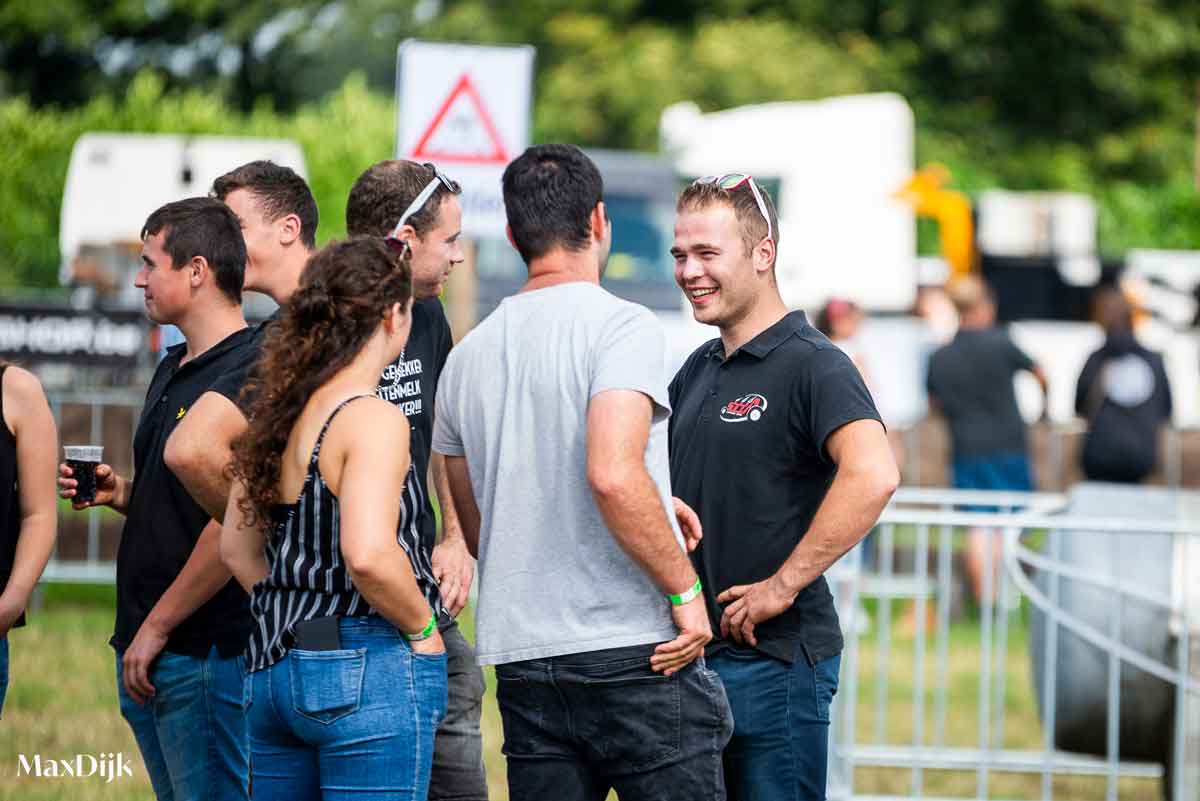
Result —
<path fill-rule="evenodd" d="M 246 677 L 254 801 L 424 801 L 446 711 L 446 656 L 383 618 L 346 618 L 336 651 L 292 649 Z"/>

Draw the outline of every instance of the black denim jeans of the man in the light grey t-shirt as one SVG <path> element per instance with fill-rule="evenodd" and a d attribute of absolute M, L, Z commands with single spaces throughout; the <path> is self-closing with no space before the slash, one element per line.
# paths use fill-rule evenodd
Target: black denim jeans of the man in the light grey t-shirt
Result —
<path fill-rule="evenodd" d="M 511 801 L 720 801 L 733 722 L 702 660 L 650 670 L 654 645 L 496 668 Z"/>

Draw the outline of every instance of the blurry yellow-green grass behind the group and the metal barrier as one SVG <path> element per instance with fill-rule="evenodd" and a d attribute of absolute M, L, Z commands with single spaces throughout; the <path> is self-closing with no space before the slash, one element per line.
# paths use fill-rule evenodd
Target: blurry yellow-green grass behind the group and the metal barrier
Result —
<path fill-rule="evenodd" d="M 107 645 L 113 622 L 112 589 L 48 588 L 44 606 L 31 615 L 31 625 L 11 638 L 11 682 L 5 717 L 0 722 L 0 801 L 151 801 L 149 781 L 138 757 L 133 736 L 116 710 L 113 651 Z M 469 632 L 469 613 L 463 615 Z M 875 731 L 875 652 L 872 640 L 859 649 L 858 716 L 860 742 L 872 742 Z M 930 651 L 932 654 L 932 651 Z M 925 686 L 935 675 L 926 661 Z M 950 634 L 947 742 L 970 746 L 978 731 L 978 628 L 955 625 Z M 1022 627 L 1015 627 L 1007 664 L 1006 742 L 1007 747 L 1033 748 L 1042 745 L 1030 677 L 1028 654 Z M 890 743 L 912 740 L 912 640 L 904 626 L 893 630 L 888 662 L 889 693 L 886 739 Z M 500 754 L 500 721 L 496 707 L 494 677 L 488 671 L 488 693 L 484 706 L 484 741 L 491 797 L 508 797 L 504 757 Z M 846 681 L 846 676 L 842 676 Z M 931 721 L 932 699 L 925 717 Z M 926 724 L 926 736 L 931 725 Z M 124 752 L 134 763 L 134 777 L 103 783 L 98 778 L 37 779 L 17 777 L 18 754 L 64 759 L 74 754 Z M 910 795 L 908 770 L 859 769 L 859 794 Z M 974 796 L 976 776 L 965 771 L 926 771 L 925 795 Z M 1121 783 L 1121 799 L 1153 801 L 1159 797 L 1153 781 Z M 1040 784 L 1034 776 L 994 775 L 991 797 L 1037 799 Z M 1104 796 L 1103 779 L 1060 778 L 1057 799 Z"/>

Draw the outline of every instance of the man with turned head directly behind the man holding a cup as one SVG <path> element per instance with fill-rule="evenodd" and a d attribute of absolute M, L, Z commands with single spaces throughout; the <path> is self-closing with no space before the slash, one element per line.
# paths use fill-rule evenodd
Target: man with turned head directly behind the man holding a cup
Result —
<path fill-rule="evenodd" d="M 317 201 L 304 179 L 290 168 L 257 161 L 212 182 L 212 197 L 229 206 L 246 241 L 244 289 L 263 293 L 278 305 L 300 285 L 300 273 L 317 240 Z M 233 442 L 246 430 L 248 399 L 241 390 L 262 349 L 271 318 L 254 329 L 246 357 L 218 377 L 167 442 L 167 466 L 212 516 L 224 520 L 229 500 L 226 465 Z"/>

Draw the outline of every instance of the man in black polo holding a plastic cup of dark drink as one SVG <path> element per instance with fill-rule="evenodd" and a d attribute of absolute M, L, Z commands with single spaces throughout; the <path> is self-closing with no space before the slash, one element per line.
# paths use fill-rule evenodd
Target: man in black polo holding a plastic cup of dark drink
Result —
<path fill-rule="evenodd" d="M 126 516 L 116 554 L 116 687 L 160 799 L 247 799 L 238 661 L 251 619 L 217 553 L 220 524 L 163 462 L 167 438 L 212 381 L 246 357 L 246 247 L 220 200 L 162 206 L 142 230 L 148 317 L 184 332 L 150 381 L 133 441 L 134 478 L 96 471 L 96 500 Z M 74 495 L 60 465 L 61 495 Z"/>

